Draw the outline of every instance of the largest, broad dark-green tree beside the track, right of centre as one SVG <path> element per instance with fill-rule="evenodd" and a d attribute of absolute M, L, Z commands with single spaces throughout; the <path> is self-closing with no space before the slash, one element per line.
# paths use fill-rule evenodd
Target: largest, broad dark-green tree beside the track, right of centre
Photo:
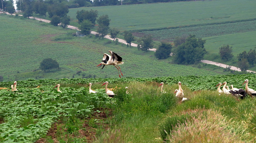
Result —
<path fill-rule="evenodd" d="M 206 54 L 204 48 L 205 40 L 196 38 L 195 35 L 190 35 L 186 42 L 174 49 L 174 60 L 177 64 L 194 64 L 203 59 Z"/>

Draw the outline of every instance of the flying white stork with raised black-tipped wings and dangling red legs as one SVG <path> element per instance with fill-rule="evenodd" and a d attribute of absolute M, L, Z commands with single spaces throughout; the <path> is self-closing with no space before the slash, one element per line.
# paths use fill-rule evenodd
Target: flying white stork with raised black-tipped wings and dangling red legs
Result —
<path fill-rule="evenodd" d="M 103 58 L 102 58 L 102 62 L 99 64 L 100 66 L 99 65 L 97 65 L 97 66 L 101 67 L 101 65 L 103 65 L 103 67 L 101 68 L 101 69 L 103 69 L 105 65 L 113 65 L 113 66 L 116 67 L 118 65 L 124 64 L 124 62 L 122 62 L 122 58 L 120 56 L 118 56 L 116 53 L 114 53 L 112 51 L 109 51 L 109 53 L 110 53 L 111 56 L 104 53 Z M 118 70 L 118 75 L 121 78 L 121 76 L 119 74 L 119 70 L 121 72 L 121 69 L 120 69 L 120 67 L 118 69 L 118 67 L 116 67 L 116 68 Z M 122 72 L 121 72 L 121 75 L 123 76 Z"/>

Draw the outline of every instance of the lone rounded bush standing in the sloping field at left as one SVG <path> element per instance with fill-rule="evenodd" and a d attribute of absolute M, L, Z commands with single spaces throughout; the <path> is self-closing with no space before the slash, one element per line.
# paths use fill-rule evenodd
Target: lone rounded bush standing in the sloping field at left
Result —
<path fill-rule="evenodd" d="M 56 60 L 53 60 L 51 58 L 43 59 L 43 61 L 40 63 L 40 70 L 43 71 L 50 71 L 51 69 L 59 68 L 59 63 Z"/>

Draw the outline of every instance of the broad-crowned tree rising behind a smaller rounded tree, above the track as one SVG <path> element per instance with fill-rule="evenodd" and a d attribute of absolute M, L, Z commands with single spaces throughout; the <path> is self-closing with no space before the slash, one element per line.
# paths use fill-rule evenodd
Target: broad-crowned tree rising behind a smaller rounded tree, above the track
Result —
<path fill-rule="evenodd" d="M 78 23 L 82 23 L 84 20 L 88 20 L 92 23 L 92 27 L 95 26 L 96 18 L 98 17 L 97 10 L 78 10 L 76 18 L 78 19 Z"/>

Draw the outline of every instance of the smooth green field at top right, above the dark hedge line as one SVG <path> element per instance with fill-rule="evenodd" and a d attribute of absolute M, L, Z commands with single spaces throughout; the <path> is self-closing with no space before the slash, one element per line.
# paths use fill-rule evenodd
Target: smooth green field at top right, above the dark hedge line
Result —
<path fill-rule="evenodd" d="M 71 25 L 77 26 L 78 10 L 97 10 L 108 15 L 110 27 L 124 30 L 145 30 L 244 21 L 256 18 L 253 0 L 213 0 L 153 4 L 134 4 L 69 9 Z"/>

